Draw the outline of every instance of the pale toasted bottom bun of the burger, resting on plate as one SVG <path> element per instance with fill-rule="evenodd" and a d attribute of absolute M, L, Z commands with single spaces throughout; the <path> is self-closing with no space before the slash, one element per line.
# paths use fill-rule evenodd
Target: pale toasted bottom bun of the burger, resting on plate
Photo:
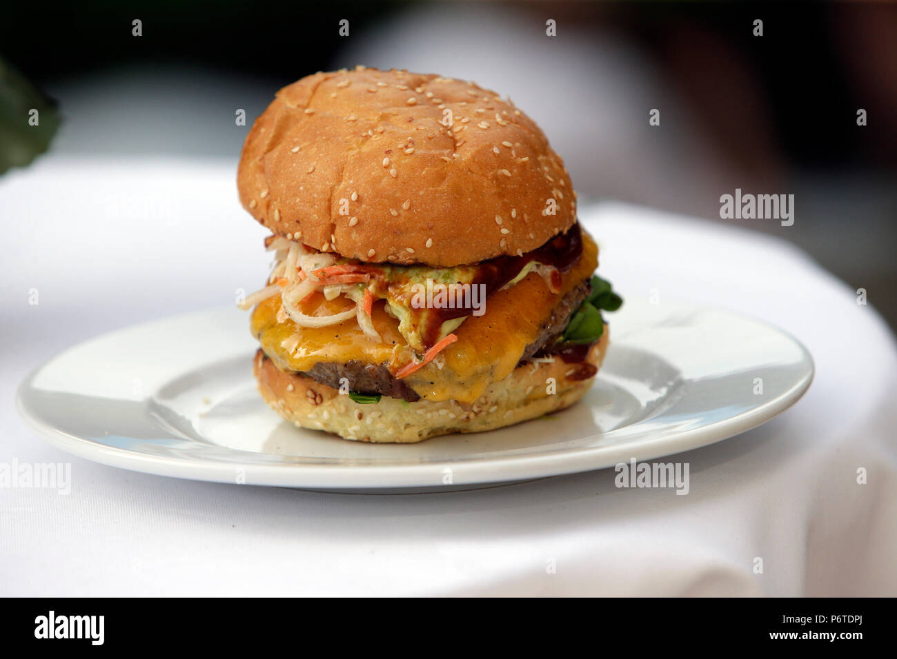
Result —
<path fill-rule="evenodd" d="M 325 430 L 345 439 L 377 443 L 419 442 L 452 432 L 482 432 L 529 421 L 579 401 L 592 386 L 607 350 L 608 329 L 584 362 L 531 362 L 492 384 L 473 405 L 457 401 L 406 403 L 383 396 L 379 403 L 355 403 L 338 389 L 283 371 L 259 350 L 253 362 L 258 390 L 266 403 L 302 428 Z M 553 393 L 549 393 L 554 379 Z M 469 408 L 469 409 L 466 409 Z"/>

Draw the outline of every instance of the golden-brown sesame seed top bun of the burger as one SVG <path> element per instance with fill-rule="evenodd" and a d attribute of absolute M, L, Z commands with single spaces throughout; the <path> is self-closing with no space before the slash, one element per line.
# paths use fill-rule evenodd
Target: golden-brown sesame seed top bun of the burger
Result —
<path fill-rule="evenodd" d="M 275 234 L 361 261 L 476 263 L 576 221 L 567 169 L 536 123 L 433 74 L 359 66 L 293 82 L 249 131 L 237 182 Z"/>

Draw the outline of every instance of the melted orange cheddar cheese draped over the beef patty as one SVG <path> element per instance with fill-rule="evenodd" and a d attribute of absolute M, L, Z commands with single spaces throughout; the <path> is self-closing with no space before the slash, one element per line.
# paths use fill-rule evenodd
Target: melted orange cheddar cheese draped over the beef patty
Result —
<path fill-rule="evenodd" d="M 543 278 L 529 273 L 520 282 L 499 290 L 486 300 L 483 316 L 467 316 L 455 334 L 457 342 L 440 352 L 442 368 L 431 362 L 415 371 L 405 382 L 422 398 L 431 401 L 453 399 L 474 403 L 486 387 L 508 377 L 523 356 L 552 309 L 563 295 L 597 267 L 597 247 L 583 231 L 582 255 L 562 275 L 561 290 L 552 293 Z M 344 299 L 324 299 L 315 293 L 302 303 L 310 316 L 337 313 Z M 398 331 L 398 321 L 389 316 L 383 303 L 374 305 L 372 321 L 382 342 L 367 338 L 352 318 L 339 325 L 298 327 L 281 308 L 280 296 L 261 302 L 252 313 L 252 334 L 268 357 L 283 370 L 307 371 L 319 361 L 387 364 L 393 373 L 413 359 L 414 351 Z"/>

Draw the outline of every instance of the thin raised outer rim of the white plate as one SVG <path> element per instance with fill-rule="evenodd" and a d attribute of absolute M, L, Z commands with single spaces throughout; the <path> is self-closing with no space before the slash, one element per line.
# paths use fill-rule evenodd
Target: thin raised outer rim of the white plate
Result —
<path fill-rule="evenodd" d="M 764 325 L 767 329 L 786 337 L 794 343 L 809 364 L 805 377 L 798 380 L 787 391 L 760 405 L 720 421 L 714 421 L 699 428 L 684 429 L 659 435 L 640 444 L 639 462 L 654 460 L 658 457 L 677 455 L 686 451 L 708 447 L 720 441 L 734 438 L 747 430 L 756 428 L 771 421 L 782 412 L 788 410 L 799 401 L 813 383 L 815 362 L 813 354 L 806 345 L 788 331 L 770 322 L 718 305 L 699 304 L 695 302 L 676 302 L 677 306 L 690 307 L 701 311 L 717 311 L 728 316 L 736 316 L 754 323 Z M 451 474 L 448 485 L 474 485 L 482 483 L 501 483 L 508 481 L 526 481 L 572 473 L 583 473 L 606 469 L 614 464 L 629 462 L 632 455 L 631 445 L 606 447 L 580 447 L 556 453 L 540 455 L 508 455 L 483 458 L 466 463 L 450 461 L 429 462 L 426 464 L 239 464 L 218 463 L 201 459 L 190 459 L 170 455 L 147 455 L 135 453 L 126 448 L 101 444 L 90 438 L 83 438 L 59 429 L 41 420 L 28 408 L 23 393 L 31 385 L 39 373 L 54 361 L 86 343 L 93 343 L 109 338 L 114 334 L 132 331 L 142 326 L 153 325 L 160 321 L 175 318 L 186 319 L 211 313 L 223 308 L 205 308 L 171 316 L 163 316 L 134 325 L 127 325 L 105 334 L 93 336 L 86 341 L 69 346 L 59 351 L 50 359 L 41 363 L 36 369 L 22 379 L 16 388 L 15 404 L 22 419 L 43 437 L 48 444 L 57 447 L 70 455 L 75 455 L 91 462 L 106 464 L 138 473 L 150 473 L 159 476 L 183 478 L 196 481 L 222 482 L 238 484 L 235 471 L 243 469 L 246 480 L 239 484 L 276 486 L 289 488 L 320 488 L 333 490 L 378 490 L 440 487 L 441 476 Z M 147 397 L 145 400 L 149 400 Z M 574 403 L 579 404 L 579 403 Z M 524 421 L 526 422 L 526 421 Z M 636 424 L 637 425 L 637 424 Z M 475 437 L 475 433 L 471 435 Z M 589 435 L 584 438 L 597 438 Z M 334 438 L 336 441 L 337 439 Z M 341 440 L 344 441 L 344 440 Z M 628 448 L 627 448 L 628 447 Z M 227 447 L 223 447 L 227 448 Z M 236 451 L 237 449 L 230 449 Z M 494 473 L 494 472 L 500 473 Z M 490 473 L 493 472 L 493 473 Z M 351 478 L 349 478 L 351 476 Z M 388 481 L 387 481 L 388 479 Z"/>

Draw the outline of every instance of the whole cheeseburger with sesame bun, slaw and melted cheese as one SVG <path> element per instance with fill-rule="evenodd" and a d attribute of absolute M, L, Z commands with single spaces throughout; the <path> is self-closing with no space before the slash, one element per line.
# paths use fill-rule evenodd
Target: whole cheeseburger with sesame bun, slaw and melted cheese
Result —
<path fill-rule="evenodd" d="M 509 100 L 432 74 L 318 73 L 277 92 L 239 161 L 272 235 L 253 308 L 266 402 L 346 439 L 417 442 L 577 402 L 607 349 L 561 158 Z"/>

